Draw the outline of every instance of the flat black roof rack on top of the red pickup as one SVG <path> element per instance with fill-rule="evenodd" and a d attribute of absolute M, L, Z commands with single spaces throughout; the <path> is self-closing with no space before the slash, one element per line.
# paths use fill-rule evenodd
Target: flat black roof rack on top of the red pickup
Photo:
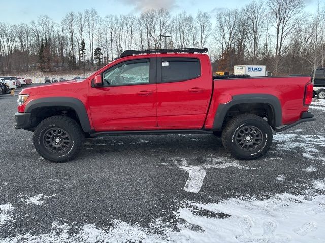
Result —
<path fill-rule="evenodd" d="M 126 50 L 122 52 L 120 57 L 127 57 L 136 54 L 150 54 L 150 53 L 177 53 L 177 52 L 185 52 L 185 53 L 204 53 L 207 52 L 208 48 L 173 48 L 173 49 L 148 49 L 148 50 Z"/>

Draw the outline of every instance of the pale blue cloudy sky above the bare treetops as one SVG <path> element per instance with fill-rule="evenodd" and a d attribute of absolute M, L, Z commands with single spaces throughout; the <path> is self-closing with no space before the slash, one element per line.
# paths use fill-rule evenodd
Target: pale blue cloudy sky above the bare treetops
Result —
<path fill-rule="evenodd" d="M 325 0 L 320 0 L 323 5 Z M 151 8 L 164 7 L 171 13 L 183 10 L 196 14 L 198 10 L 207 11 L 214 17 L 223 8 L 241 8 L 250 0 L 0 0 L 0 22 L 18 24 L 37 20 L 39 15 L 48 15 L 59 22 L 70 11 L 83 12 L 95 8 L 104 17 L 108 14 L 140 13 Z M 314 11 L 317 0 L 305 0 L 306 11 Z"/>

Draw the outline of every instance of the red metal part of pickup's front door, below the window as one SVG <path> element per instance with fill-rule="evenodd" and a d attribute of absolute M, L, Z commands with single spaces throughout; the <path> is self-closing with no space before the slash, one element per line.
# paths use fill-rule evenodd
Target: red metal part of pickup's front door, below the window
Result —
<path fill-rule="evenodd" d="M 89 89 L 89 105 L 96 130 L 156 128 L 157 84 Z M 139 95 L 140 91 L 151 94 Z"/>

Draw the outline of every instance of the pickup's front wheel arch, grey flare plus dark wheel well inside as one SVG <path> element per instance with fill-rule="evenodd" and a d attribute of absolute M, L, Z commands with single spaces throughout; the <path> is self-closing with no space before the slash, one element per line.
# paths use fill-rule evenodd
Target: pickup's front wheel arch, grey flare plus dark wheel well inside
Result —
<path fill-rule="evenodd" d="M 53 111 L 53 113 L 49 111 Z M 67 114 L 69 114 L 69 112 L 75 113 L 75 120 L 80 124 L 82 130 L 85 133 L 91 133 L 91 126 L 86 108 L 79 99 L 72 97 L 40 98 L 30 101 L 25 107 L 25 113 L 40 115 L 41 119 L 39 119 L 38 122 L 53 115 L 65 115 L 64 113 L 57 112 L 67 112 Z"/>

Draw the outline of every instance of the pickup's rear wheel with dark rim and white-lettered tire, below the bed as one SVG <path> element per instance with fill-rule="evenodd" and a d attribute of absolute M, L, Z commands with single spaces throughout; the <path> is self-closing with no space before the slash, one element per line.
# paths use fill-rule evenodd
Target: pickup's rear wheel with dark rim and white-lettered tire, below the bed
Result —
<path fill-rule="evenodd" d="M 253 160 L 262 157 L 271 147 L 273 133 L 261 117 L 241 114 L 232 118 L 222 131 L 222 144 L 234 157 Z"/>

